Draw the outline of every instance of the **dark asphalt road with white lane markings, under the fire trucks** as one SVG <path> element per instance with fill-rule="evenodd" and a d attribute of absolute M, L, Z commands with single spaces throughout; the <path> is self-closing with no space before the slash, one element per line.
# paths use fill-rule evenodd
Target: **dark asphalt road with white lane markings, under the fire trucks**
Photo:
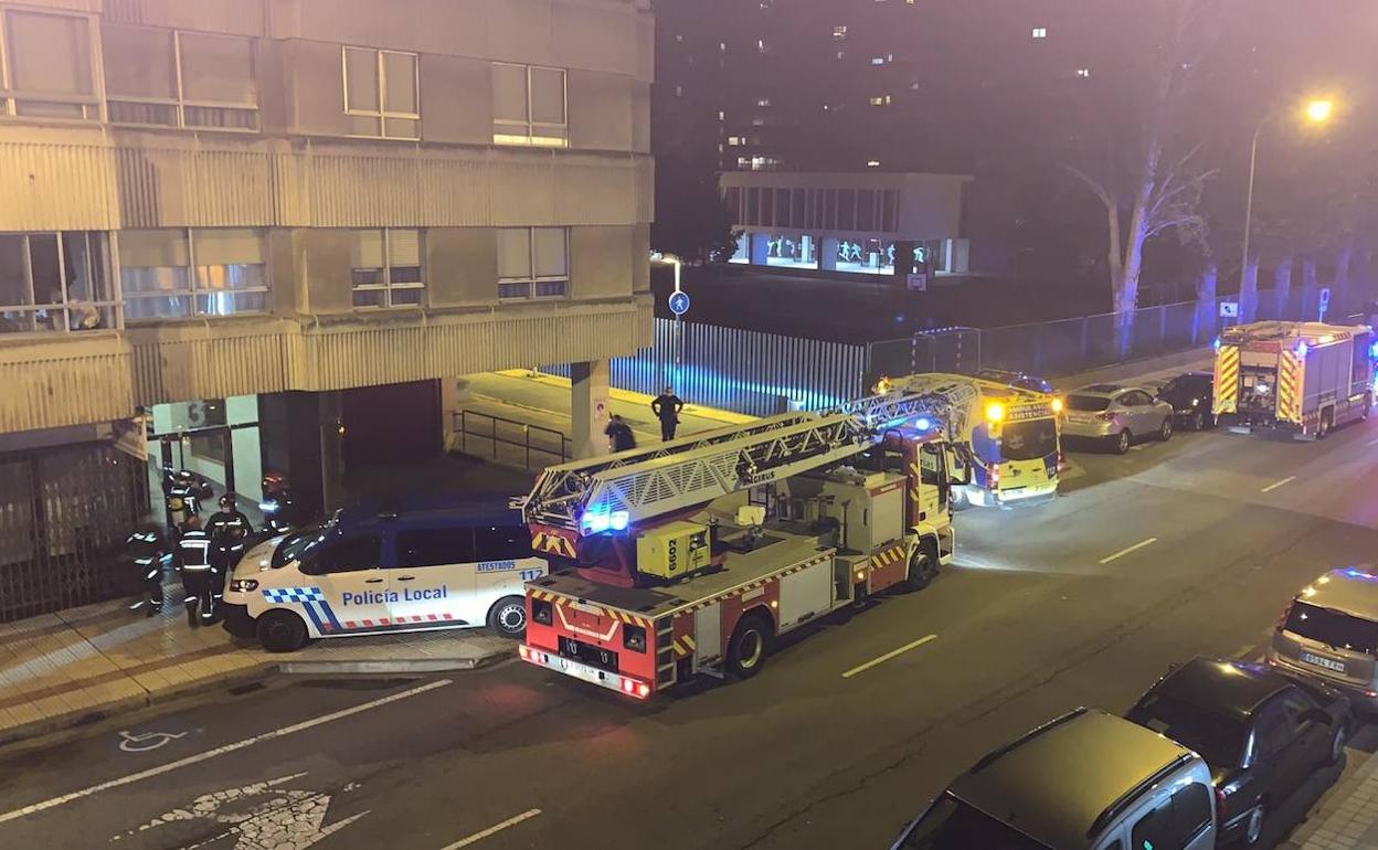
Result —
<path fill-rule="evenodd" d="M 0 752 L 0 846 L 885 847 L 1031 726 L 1123 711 L 1193 654 L 1257 657 L 1291 594 L 1378 551 L 1375 446 L 1378 420 L 1072 455 L 1053 503 L 960 514 L 959 563 L 929 590 L 744 683 L 633 704 L 518 664 L 295 682 Z"/>

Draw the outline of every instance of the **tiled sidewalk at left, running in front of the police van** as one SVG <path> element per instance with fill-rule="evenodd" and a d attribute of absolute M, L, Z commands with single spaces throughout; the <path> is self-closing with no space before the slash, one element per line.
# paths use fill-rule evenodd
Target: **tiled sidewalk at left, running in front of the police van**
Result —
<path fill-rule="evenodd" d="M 101 602 L 0 625 L 0 744 L 147 705 L 216 682 L 270 672 L 466 670 L 513 654 L 486 630 L 317 641 L 269 654 L 219 625 L 190 628 L 181 605 L 161 616 Z"/>

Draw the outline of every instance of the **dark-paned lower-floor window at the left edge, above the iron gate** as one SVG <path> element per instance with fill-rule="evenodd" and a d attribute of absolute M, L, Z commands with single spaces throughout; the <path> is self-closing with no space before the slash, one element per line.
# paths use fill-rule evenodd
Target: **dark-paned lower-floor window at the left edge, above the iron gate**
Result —
<path fill-rule="evenodd" d="M 114 326 L 103 233 L 0 233 L 0 333 Z"/>

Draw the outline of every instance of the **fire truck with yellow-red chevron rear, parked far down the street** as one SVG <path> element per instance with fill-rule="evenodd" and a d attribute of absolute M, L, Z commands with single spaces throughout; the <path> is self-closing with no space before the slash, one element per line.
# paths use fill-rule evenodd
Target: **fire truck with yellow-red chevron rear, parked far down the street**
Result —
<path fill-rule="evenodd" d="M 1254 322 L 1215 340 L 1214 413 L 1236 428 L 1323 438 L 1368 417 L 1378 346 L 1367 325 Z"/>

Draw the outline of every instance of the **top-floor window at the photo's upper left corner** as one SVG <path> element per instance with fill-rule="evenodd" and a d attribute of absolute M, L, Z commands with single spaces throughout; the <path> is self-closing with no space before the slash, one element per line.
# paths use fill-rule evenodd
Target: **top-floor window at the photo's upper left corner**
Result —
<path fill-rule="evenodd" d="M 88 18 L 0 14 L 0 114 L 96 121 Z"/>

